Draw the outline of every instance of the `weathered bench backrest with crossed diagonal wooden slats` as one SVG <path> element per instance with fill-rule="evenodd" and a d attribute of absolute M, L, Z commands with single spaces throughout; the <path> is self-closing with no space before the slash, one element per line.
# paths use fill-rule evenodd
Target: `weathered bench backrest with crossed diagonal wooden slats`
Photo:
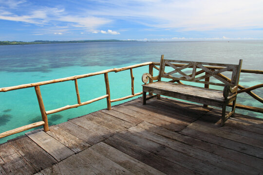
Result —
<path fill-rule="evenodd" d="M 233 65 L 233 64 L 170 60 L 170 59 L 164 59 L 164 56 L 162 55 L 158 81 L 161 81 L 161 78 L 163 77 L 163 78 L 170 78 L 174 81 L 183 80 L 183 81 L 190 81 L 190 82 L 203 83 L 209 85 L 217 85 L 217 86 L 229 85 L 230 87 L 234 87 L 237 86 L 239 83 L 241 65 L 242 65 L 242 60 L 239 60 L 238 65 Z M 166 66 L 170 66 L 174 70 L 165 72 Z M 184 70 L 189 71 L 189 69 L 186 68 L 191 68 L 192 73 L 191 74 L 185 73 Z M 225 79 L 225 75 L 221 74 L 222 72 L 225 71 L 232 71 L 232 76 L 231 78 L 229 78 L 231 80 Z M 197 75 L 204 72 L 206 73 L 205 75 L 196 77 Z M 172 76 L 175 73 L 179 73 L 181 77 Z M 220 81 L 220 83 L 210 82 L 209 77 L 216 78 L 217 80 Z"/>

